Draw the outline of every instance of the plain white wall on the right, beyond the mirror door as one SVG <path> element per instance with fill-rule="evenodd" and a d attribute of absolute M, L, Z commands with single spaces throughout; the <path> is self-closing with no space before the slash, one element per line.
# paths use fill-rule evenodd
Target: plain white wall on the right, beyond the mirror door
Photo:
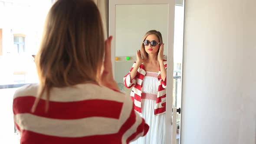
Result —
<path fill-rule="evenodd" d="M 256 144 L 256 0 L 185 0 L 181 144 Z"/>

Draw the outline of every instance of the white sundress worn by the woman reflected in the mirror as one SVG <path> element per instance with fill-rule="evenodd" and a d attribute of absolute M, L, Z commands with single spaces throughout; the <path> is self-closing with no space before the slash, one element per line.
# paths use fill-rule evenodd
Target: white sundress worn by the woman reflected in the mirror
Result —
<path fill-rule="evenodd" d="M 146 72 L 143 79 L 142 93 L 157 95 L 158 93 L 158 73 Z M 156 101 L 151 98 L 141 98 L 141 117 L 149 125 L 148 133 L 144 137 L 138 138 L 130 144 L 164 144 L 165 141 L 165 113 L 154 115 Z"/>

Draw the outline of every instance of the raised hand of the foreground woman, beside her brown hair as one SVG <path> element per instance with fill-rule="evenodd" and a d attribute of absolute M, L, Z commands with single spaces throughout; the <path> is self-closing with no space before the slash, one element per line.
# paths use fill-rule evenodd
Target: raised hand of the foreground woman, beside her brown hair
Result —
<path fill-rule="evenodd" d="M 99 84 L 111 89 L 118 90 L 118 85 L 114 80 L 113 72 L 112 72 L 111 41 L 112 41 L 112 36 L 109 36 L 109 38 L 105 40 L 105 60 L 103 64 L 102 74 L 100 75 L 100 78 L 99 78 Z"/>

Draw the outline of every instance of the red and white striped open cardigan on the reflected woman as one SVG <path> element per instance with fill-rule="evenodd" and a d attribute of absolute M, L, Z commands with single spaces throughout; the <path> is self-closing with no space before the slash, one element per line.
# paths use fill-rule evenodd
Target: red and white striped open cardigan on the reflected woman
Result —
<path fill-rule="evenodd" d="M 131 70 L 135 67 L 135 63 L 133 63 Z M 167 69 L 167 60 L 164 60 L 164 67 Z M 143 88 L 143 78 L 146 74 L 144 64 L 142 63 L 140 67 L 138 68 L 137 75 L 134 79 L 131 79 L 131 70 L 130 72 L 125 75 L 124 77 L 124 83 L 125 87 L 131 88 L 131 99 L 134 102 L 134 109 L 135 111 L 138 111 L 141 113 L 141 93 Z M 162 114 L 165 110 L 165 104 L 166 104 L 166 77 L 165 79 L 161 79 L 161 71 L 158 72 L 158 94 L 157 94 L 157 100 L 156 105 L 154 108 L 154 115 Z"/>

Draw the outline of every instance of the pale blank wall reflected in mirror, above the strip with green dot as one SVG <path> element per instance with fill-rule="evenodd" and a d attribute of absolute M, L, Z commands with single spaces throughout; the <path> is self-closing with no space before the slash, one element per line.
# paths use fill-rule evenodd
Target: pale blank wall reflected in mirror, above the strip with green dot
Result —
<path fill-rule="evenodd" d="M 168 5 L 117 5 L 115 29 L 116 56 L 136 56 L 141 49 L 142 39 L 149 30 L 161 32 L 167 48 Z M 167 53 L 167 49 L 164 49 Z"/>

